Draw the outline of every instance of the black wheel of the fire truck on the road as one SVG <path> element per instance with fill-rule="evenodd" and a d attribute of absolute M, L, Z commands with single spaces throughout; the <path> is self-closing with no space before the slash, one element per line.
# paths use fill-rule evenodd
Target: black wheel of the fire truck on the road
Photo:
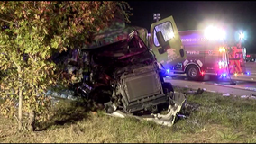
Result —
<path fill-rule="evenodd" d="M 198 67 L 195 65 L 188 66 L 186 74 L 187 74 L 188 80 L 201 80 L 202 78 Z"/>

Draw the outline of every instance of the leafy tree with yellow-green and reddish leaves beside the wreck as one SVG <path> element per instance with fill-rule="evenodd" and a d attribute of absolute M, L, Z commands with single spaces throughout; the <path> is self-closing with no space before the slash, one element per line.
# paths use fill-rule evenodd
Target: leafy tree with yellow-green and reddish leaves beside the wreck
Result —
<path fill-rule="evenodd" d="M 122 12 L 128 21 L 127 6 L 116 1 L 0 2 L 0 24 L 7 26 L 0 32 L 0 95 L 5 102 L 1 112 L 16 117 L 18 106 L 19 130 L 25 113 L 46 121 L 50 106 L 46 90 L 51 85 L 69 84 L 62 69 L 50 60 L 52 54 L 68 47 L 81 48 L 116 12 Z"/>

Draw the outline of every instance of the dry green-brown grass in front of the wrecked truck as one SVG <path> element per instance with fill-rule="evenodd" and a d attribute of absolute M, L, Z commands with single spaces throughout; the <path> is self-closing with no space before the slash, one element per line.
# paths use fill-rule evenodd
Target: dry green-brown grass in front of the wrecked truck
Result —
<path fill-rule="evenodd" d="M 185 92 L 185 88 L 175 88 Z M 17 132 L 15 120 L 0 116 L 0 142 L 30 143 L 255 143 L 256 101 L 204 92 L 187 95 L 187 119 L 172 127 L 151 121 L 106 116 L 102 111 L 89 111 L 81 103 L 62 101 L 51 121 L 41 130 Z"/>

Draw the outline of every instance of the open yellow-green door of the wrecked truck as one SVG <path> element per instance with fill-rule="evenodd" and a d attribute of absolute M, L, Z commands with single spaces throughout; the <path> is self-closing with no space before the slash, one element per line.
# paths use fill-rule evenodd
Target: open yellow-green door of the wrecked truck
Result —
<path fill-rule="evenodd" d="M 158 34 L 157 34 L 158 33 Z M 160 40 L 159 33 L 161 33 Z M 177 26 L 172 16 L 151 24 L 151 49 L 165 68 L 174 67 L 186 58 Z"/>

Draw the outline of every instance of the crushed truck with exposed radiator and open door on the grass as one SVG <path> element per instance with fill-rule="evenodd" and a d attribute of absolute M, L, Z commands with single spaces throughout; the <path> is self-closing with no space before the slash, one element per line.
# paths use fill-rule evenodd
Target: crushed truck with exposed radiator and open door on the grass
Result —
<path fill-rule="evenodd" d="M 145 42 L 148 33 L 142 29 L 126 25 L 109 28 L 96 33 L 91 44 L 76 49 L 71 59 L 80 64 L 69 70 L 81 75 L 73 88 L 76 94 L 102 104 L 109 115 L 135 116 L 171 126 L 186 98 L 164 82 L 166 70 L 155 56 L 161 55 L 160 61 L 168 64 L 184 60 L 178 29 L 172 16 L 151 25 L 156 34 L 150 42 Z M 159 41 L 158 45 L 153 41 Z M 154 45 L 153 51 L 148 43 Z M 162 110 L 167 114 L 160 114 Z"/>

